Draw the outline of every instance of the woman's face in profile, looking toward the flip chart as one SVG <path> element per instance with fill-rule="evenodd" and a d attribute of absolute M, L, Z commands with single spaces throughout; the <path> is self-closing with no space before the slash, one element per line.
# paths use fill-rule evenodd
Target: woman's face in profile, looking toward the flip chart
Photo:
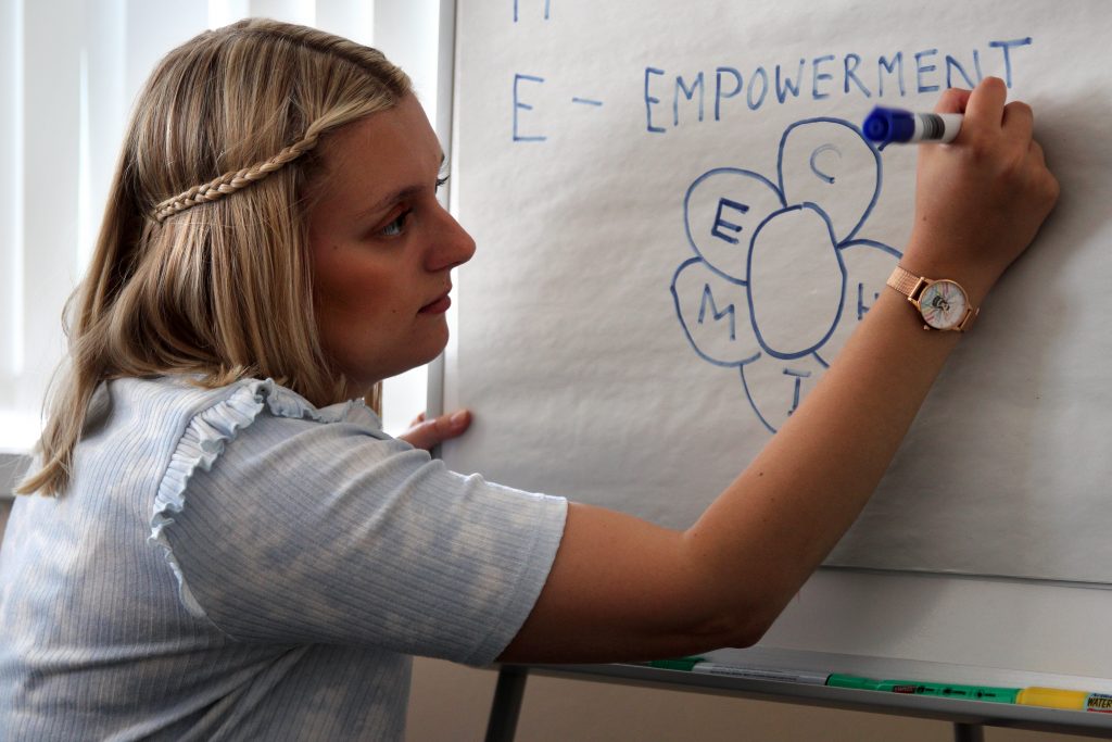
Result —
<path fill-rule="evenodd" d="M 449 273 L 475 241 L 436 200 L 444 155 L 413 96 L 322 147 L 308 211 L 317 325 L 361 395 L 444 349 Z"/>

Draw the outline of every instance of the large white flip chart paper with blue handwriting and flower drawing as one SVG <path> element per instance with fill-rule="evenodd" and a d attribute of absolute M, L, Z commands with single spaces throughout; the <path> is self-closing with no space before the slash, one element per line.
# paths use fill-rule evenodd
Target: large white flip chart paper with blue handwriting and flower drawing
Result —
<path fill-rule="evenodd" d="M 886 290 L 915 151 L 863 117 L 996 75 L 1060 205 L 830 563 L 1112 583 L 1108 3 L 460 2 L 458 34 L 450 466 L 688 525 Z"/>

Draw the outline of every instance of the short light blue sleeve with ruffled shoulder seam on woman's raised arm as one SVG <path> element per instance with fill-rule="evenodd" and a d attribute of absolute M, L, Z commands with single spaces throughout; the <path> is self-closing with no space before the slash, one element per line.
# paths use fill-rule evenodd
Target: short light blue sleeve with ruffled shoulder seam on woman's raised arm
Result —
<path fill-rule="evenodd" d="M 153 537 L 186 607 L 241 641 L 492 662 L 547 578 L 566 501 L 451 472 L 369 410 L 328 419 L 286 394 L 242 387 L 178 445 Z"/>

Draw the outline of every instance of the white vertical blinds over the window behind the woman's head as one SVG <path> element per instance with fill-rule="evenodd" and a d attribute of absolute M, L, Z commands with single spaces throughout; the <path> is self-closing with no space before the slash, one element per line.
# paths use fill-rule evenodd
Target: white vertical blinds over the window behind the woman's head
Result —
<path fill-rule="evenodd" d="M 2 1 L 0 451 L 27 451 L 38 435 L 64 352 L 62 307 L 96 240 L 131 105 L 168 50 L 248 16 L 377 41 L 437 121 L 447 0 Z"/>

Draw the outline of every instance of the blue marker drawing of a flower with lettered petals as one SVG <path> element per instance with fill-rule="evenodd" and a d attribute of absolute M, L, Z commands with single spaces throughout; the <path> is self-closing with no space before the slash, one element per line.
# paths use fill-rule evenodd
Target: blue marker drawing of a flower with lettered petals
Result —
<path fill-rule="evenodd" d="M 684 197 L 695 251 L 672 280 L 676 316 L 707 363 L 737 368 L 775 433 L 880 296 L 900 253 L 860 237 L 881 192 L 880 152 L 848 121 L 784 130 L 776 182 L 714 168 Z"/>

